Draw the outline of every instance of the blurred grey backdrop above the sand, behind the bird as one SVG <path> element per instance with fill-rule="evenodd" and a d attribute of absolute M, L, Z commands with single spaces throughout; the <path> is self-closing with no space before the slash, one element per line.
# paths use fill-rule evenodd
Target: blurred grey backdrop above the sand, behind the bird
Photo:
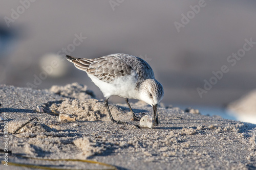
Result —
<path fill-rule="evenodd" d="M 256 42 L 255 8 L 252 0 L 2 1 L 0 84 L 41 89 L 78 82 L 103 99 L 85 72 L 63 56 L 125 53 L 152 66 L 165 105 L 222 115 L 222 108 L 256 87 L 256 44 L 241 51 L 245 39 Z M 239 50 L 243 57 L 229 58 Z M 228 72 L 212 78 L 223 65 Z M 254 116 L 256 122 L 255 110 L 248 120 L 229 116 L 246 122 Z"/>

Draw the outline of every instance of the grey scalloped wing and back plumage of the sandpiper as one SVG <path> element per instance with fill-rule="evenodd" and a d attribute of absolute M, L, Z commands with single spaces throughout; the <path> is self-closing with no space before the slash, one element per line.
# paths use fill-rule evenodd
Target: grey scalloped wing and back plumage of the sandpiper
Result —
<path fill-rule="evenodd" d="M 131 75 L 134 70 L 141 79 L 153 78 L 154 72 L 144 60 L 126 54 L 112 54 L 95 59 L 80 59 L 67 56 L 67 59 L 75 66 L 88 74 L 96 76 L 103 82 L 111 82 L 117 77 Z M 149 71 L 145 71 L 146 68 Z"/>

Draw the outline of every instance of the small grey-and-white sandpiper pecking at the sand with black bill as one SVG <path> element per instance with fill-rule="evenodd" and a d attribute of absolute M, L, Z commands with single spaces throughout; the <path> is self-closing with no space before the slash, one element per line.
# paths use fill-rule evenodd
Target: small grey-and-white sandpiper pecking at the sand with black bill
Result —
<path fill-rule="evenodd" d="M 154 76 L 154 72 L 146 61 L 127 54 L 111 54 L 95 59 L 66 56 L 76 68 L 86 71 L 94 84 L 99 87 L 105 97 L 105 107 L 112 122 L 108 99 L 117 95 L 125 99 L 133 118 L 139 120 L 129 104 L 128 99 L 138 99 L 150 104 L 154 111 L 154 124 L 158 125 L 157 105 L 163 98 L 163 86 Z"/>

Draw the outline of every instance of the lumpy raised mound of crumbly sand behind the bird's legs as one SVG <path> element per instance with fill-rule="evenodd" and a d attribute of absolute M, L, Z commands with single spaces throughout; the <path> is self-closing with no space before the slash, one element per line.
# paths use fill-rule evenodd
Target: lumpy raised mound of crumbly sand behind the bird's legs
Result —
<path fill-rule="evenodd" d="M 40 105 L 47 112 L 65 113 L 76 116 L 76 119 L 83 121 L 106 120 L 108 113 L 102 100 L 94 99 L 94 92 L 87 89 L 87 86 L 78 83 L 66 86 L 52 86 L 50 91 L 66 96 L 61 101 L 50 101 Z M 123 110 L 115 105 L 110 105 L 113 116 Z"/>

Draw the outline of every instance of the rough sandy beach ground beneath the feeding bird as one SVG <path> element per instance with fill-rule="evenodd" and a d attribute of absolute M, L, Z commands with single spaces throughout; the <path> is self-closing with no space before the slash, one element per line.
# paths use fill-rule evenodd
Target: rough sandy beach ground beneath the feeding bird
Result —
<path fill-rule="evenodd" d="M 127 105 L 111 103 L 113 117 L 130 123 L 113 124 L 103 101 L 77 83 L 41 90 L 0 85 L 0 103 L 4 119 L 0 122 L 1 160 L 8 155 L 8 166 L 2 163 L 0 169 L 30 169 L 11 162 L 58 169 L 110 169 L 49 159 L 89 159 L 117 169 L 256 169 L 254 124 L 189 113 L 162 103 L 160 124 L 137 128 L 139 122 L 131 120 Z M 153 114 L 145 103 L 131 106 L 140 117 Z M 33 119 L 22 127 L 32 118 L 38 121 Z"/>

